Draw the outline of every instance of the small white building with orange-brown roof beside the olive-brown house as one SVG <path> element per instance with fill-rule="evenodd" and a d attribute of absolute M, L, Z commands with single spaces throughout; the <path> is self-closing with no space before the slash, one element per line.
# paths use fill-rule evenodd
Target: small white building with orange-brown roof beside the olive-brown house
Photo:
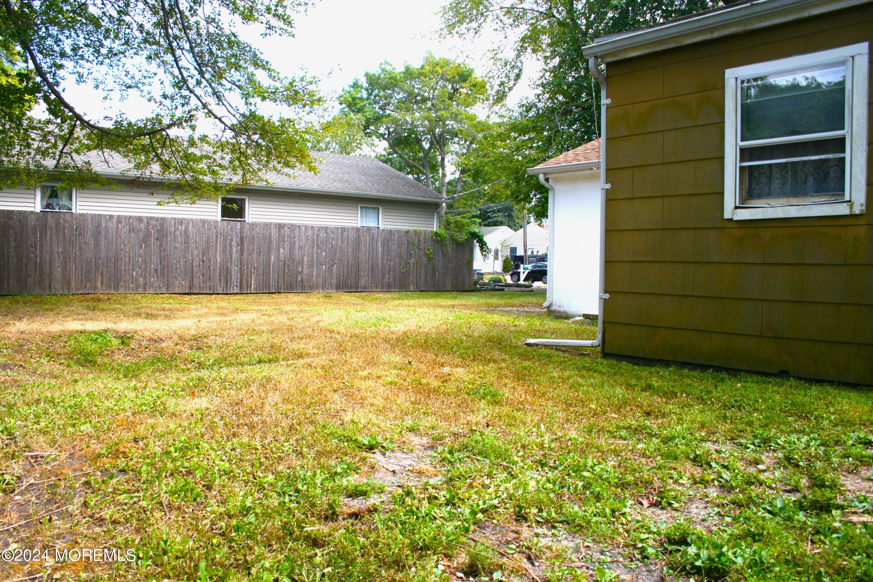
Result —
<path fill-rule="evenodd" d="M 539 175 L 549 189 L 548 312 L 562 317 L 597 313 L 600 140 L 544 161 L 527 173 Z"/>

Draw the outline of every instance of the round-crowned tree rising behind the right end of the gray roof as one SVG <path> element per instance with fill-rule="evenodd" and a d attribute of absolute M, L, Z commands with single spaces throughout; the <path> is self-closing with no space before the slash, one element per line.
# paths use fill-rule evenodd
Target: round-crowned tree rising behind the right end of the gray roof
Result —
<path fill-rule="evenodd" d="M 450 181 L 456 193 L 464 187 L 469 170 L 461 161 L 488 125 L 476 113 L 487 99 L 485 80 L 470 66 L 429 54 L 420 66 L 366 73 L 341 103 L 365 134 L 385 142 L 389 162 L 444 196 Z"/>

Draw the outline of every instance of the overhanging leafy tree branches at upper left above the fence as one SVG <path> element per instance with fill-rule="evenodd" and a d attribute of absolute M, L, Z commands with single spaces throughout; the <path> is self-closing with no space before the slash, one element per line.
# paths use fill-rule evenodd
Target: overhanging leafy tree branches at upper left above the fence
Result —
<path fill-rule="evenodd" d="M 95 151 L 189 200 L 265 171 L 312 169 L 297 120 L 318 101 L 312 79 L 282 76 L 240 37 L 248 25 L 292 36 L 307 3 L 2 0 L 0 187 L 100 182 L 86 157 Z M 119 104 L 116 113 L 93 117 L 73 86 Z M 127 113 L 129 97 L 148 111 Z"/>

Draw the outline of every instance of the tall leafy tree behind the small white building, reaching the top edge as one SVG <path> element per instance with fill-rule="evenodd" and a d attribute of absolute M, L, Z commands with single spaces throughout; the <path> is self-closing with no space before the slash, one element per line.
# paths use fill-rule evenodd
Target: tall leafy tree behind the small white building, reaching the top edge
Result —
<path fill-rule="evenodd" d="M 498 31 L 491 51 L 500 95 L 521 79 L 526 59 L 542 64 L 535 95 L 482 140 L 466 163 L 501 180 L 503 195 L 546 214 L 545 188 L 525 168 L 596 137 L 600 92 L 582 47 L 597 36 L 656 24 L 721 5 L 721 0 L 449 0 L 443 32 L 470 38 Z M 499 96 L 499 95 L 498 95 Z"/>

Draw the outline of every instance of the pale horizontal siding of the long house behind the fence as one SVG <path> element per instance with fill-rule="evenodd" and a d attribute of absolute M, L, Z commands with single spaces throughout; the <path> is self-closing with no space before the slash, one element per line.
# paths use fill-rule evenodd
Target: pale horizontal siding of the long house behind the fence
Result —
<path fill-rule="evenodd" d="M 279 193 L 264 190 L 246 190 L 240 191 L 240 194 L 249 196 L 249 220 L 262 223 L 356 227 L 358 205 L 367 204 L 382 207 L 382 228 L 431 230 L 434 227 L 434 212 L 438 208 L 436 202 L 407 202 L 353 196 Z M 158 204 L 168 197 L 168 192 L 153 193 L 149 188 L 129 186 L 120 186 L 117 189 L 79 188 L 76 192 L 76 212 L 206 220 L 218 218 L 217 202 Z M 0 190 L 0 209 L 34 211 L 36 208 L 34 188 Z"/>

